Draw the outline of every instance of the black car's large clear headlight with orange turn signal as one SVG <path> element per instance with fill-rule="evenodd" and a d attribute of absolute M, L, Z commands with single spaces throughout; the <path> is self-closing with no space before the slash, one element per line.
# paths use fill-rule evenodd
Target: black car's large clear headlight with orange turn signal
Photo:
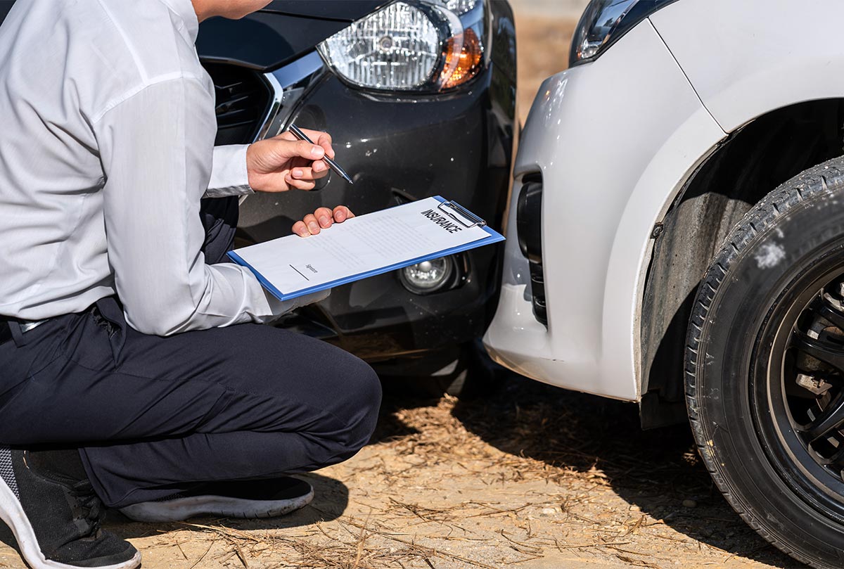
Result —
<path fill-rule="evenodd" d="M 317 46 L 349 84 L 439 91 L 478 73 L 484 51 L 482 0 L 395 2 Z"/>

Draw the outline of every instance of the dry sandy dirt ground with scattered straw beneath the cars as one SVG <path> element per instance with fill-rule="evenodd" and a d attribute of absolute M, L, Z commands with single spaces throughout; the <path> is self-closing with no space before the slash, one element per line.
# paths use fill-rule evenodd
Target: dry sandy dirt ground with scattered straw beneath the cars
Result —
<path fill-rule="evenodd" d="M 565 68 L 571 19 L 517 19 L 522 120 Z M 304 476 L 310 507 L 262 521 L 145 525 L 110 513 L 151 569 L 798 567 L 722 499 L 688 428 L 510 375 L 485 398 L 387 398 L 376 436 Z M 8 531 L 0 534 L 14 543 Z M 0 545 L 0 567 L 24 567 Z"/>

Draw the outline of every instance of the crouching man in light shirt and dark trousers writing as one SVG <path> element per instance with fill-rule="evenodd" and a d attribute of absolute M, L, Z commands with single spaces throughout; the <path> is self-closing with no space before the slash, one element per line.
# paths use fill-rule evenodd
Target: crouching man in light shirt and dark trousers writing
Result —
<path fill-rule="evenodd" d="M 375 426 L 369 366 L 261 325 L 323 295 L 280 302 L 225 263 L 239 195 L 311 189 L 333 157 L 315 132 L 214 148 L 198 24 L 266 4 L 21 0 L 0 27 L 0 517 L 32 567 L 138 566 L 103 504 L 302 507 L 311 487 L 286 476 Z"/>

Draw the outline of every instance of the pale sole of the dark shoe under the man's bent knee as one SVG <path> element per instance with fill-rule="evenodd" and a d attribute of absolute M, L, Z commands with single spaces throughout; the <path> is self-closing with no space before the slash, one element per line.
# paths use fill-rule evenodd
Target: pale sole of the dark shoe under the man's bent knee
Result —
<path fill-rule="evenodd" d="M 120 512 L 135 522 L 182 522 L 197 516 L 219 518 L 277 518 L 313 500 L 311 489 L 304 496 L 286 500 L 242 500 L 227 496 L 191 496 L 168 501 L 145 501 L 120 508 Z"/>

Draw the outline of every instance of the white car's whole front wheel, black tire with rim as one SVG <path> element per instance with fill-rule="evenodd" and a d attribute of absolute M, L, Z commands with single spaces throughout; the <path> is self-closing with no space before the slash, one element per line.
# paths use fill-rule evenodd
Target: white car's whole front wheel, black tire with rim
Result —
<path fill-rule="evenodd" d="M 844 158 L 768 194 L 717 252 L 685 390 L 736 512 L 798 561 L 844 566 Z"/>

